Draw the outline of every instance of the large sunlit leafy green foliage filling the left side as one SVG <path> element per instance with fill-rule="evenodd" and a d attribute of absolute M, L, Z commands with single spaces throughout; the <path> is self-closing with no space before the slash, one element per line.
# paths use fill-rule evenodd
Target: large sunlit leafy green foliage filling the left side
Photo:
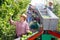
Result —
<path fill-rule="evenodd" d="M 15 27 L 10 25 L 9 19 L 19 20 L 25 13 L 29 0 L 0 0 L 0 40 L 13 40 L 15 38 Z"/>

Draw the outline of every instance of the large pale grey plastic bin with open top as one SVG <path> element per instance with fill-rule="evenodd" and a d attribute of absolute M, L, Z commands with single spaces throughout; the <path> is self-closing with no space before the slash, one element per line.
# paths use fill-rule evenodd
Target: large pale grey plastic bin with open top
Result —
<path fill-rule="evenodd" d="M 43 25 L 43 29 L 56 30 L 59 18 L 48 8 L 45 10 L 46 12 L 44 10 L 39 10 L 39 8 L 38 11 L 40 13 L 40 21 Z"/>

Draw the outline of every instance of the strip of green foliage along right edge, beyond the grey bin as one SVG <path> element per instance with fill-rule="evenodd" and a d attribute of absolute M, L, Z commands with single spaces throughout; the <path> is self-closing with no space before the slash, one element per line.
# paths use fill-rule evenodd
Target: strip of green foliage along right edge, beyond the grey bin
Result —
<path fill-rule="evenodd" d="M 59 0 L 54 1 L 54 11 L 53 12 L 54 12 L 54 14 L 56 14 L 59 17 L 57 31 L 60 32 L 60 2 L 59 2 Z"/>

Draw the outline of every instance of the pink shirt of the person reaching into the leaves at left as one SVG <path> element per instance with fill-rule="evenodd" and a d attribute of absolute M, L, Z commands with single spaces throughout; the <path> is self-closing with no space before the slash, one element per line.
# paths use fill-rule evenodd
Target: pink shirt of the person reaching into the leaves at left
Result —
<path fill-rule="evenodd" d="M 27 31 L 29 30 L 29 25 L 26 21 L 24 21 L 24 22 L 20 22 L 20 21 L 14 22 L 14 21 L 11 20 L 11 23 L 16 26 L 16 34 L 17 34 L 18 37 L 22 34 L 27 33 Z"/>

